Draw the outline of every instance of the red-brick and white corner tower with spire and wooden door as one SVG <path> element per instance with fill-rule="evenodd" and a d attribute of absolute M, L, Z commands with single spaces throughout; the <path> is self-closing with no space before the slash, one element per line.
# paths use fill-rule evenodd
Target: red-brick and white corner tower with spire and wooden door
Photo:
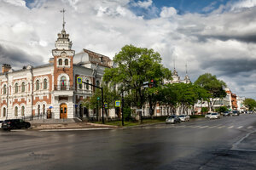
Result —
<path fill-rule="evenodd" d="M 55 119 L 73 117 L 73 56 L 72 42 L 69 34 L 65 31 L 64 13 L 62 31 L 55 41 L 55 49 L 52 50 L 54 57 L 54 112 Z"/>

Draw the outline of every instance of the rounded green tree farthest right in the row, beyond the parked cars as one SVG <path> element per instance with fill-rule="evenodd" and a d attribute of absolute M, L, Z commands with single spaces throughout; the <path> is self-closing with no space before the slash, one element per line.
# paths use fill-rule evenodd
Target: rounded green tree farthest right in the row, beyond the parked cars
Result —
<path fill-rule="evenodd" d="M 212 76 L 210 73 L 206 73 L 198 77 L 195 84 L 205 88 L 208 94 L 210 94 L 207 96 L 210 111 L 212 111 L 212 107 L 216 99 L 223 99 L 226 96 L 226 92 L 224 90 L 226 83 L 222 80 L 218 80 L 216 76 Z"/>

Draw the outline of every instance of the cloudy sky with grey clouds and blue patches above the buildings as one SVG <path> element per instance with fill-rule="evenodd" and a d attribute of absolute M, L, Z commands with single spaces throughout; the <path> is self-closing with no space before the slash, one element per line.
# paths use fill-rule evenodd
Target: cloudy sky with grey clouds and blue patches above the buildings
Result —
<path fill-rule="evenodd" d="M 0 64 L 51 57 L 65 8 L 73 49 L 113 59 L 125 44 L 153 48 L 192 82 L 206 72 L 256 99 L 256 0 L 0 0 Z"/>

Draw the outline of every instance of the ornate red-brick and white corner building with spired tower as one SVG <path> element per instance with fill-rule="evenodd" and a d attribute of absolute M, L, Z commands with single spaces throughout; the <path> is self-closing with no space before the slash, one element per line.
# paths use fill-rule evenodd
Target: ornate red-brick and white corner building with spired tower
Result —
<path fill-rule="evenodd" d="M 84 82 L 101 84 L 103 71 L 112 67 L 112 60 L 102 54 L 83 49 L 75 55 L 73 43 L 63 28 L 52 50 L 49 64 L 33 67 L 27 65 L 13 70 L 3 64 L 0 73 L 0 119 L 26 116 L 66 119 L 93 116 L 81 103 L 92 95 L 89 85 L 79 85 L 77 77 Z"/>

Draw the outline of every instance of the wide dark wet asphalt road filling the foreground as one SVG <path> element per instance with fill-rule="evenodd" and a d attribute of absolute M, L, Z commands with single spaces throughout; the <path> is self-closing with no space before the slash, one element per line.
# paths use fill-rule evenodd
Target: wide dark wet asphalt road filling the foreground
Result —
<path fill-rule="evenodd" d="M 256 169 L 256 115 L 115 130 L 0 132 L 1 169 Z"/>

